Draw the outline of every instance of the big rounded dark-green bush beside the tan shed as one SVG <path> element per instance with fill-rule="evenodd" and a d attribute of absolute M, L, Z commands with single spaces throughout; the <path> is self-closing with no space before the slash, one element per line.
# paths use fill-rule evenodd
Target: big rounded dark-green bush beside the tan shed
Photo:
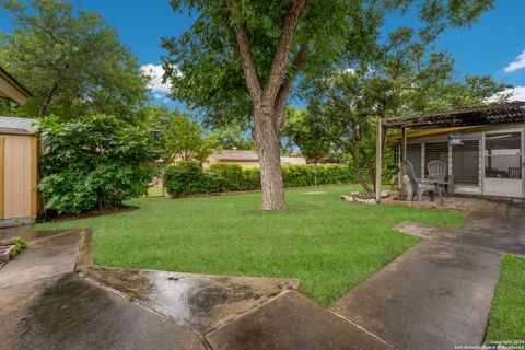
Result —
<path fill-rule="evenodd" d="M 145 194 L 151 180 L 148 135 L 114 117 L 39 120 L 44 144 L 37 190 L 59 213 L 109 209 Z"/>

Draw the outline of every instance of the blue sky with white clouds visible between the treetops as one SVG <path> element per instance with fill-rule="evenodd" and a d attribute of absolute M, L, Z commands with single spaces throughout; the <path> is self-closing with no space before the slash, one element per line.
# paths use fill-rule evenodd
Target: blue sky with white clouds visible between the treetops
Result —
<path fill-rule="evenodd" d="M 83 0 L 72 1 L 85 10 L 101 13 L 115 27 L 121 40 L 150 71 L 162 73 L 160 48 L 162 36 L 177 36 L 190 24 L 186 13 L 175 13 L 166 0 Z M 470 28 L 448 28 L 439 39 L 440 48 L 448 49 L 462 73 L 491 74 L 497 81 L 518 86 L 525 100 L 525 0 L 497 0 L 494 10 L 485 13 Z M 387 28 L 413 26 L 413 16 L 394 15 Z M 11 31 L 8 19 L 0 15 L 0 30 Z M 505 70 L 506 68 L 506 70 Z M 153 84 L 156 103 L 167 103 L 166 85 L 156 79 Z"/>

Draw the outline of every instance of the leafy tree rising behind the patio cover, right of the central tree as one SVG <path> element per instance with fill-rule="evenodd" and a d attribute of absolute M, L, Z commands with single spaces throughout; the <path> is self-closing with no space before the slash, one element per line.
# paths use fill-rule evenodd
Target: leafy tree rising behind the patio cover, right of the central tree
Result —
<path fill-rule="evenodd" d="M 490 77 L 462 77 L 447 51 L 401 27 L 355 69 L 340 67 L 312 84 L 306 110 L 284 130 L 307 152 L 318 144 L 351 155 L 361 185 L 371 190 L 377 118 L 480 105 L 508 88 Z"/>

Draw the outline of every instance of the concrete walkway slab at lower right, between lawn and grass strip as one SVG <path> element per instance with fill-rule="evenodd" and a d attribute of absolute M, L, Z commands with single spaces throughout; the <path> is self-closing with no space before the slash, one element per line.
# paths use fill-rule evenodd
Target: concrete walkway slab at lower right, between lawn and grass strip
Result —
<path fill-rule="evenodd" d="M 399 349 L 480 346 L 500 255 L 422 240 L 329 308 Z"/>

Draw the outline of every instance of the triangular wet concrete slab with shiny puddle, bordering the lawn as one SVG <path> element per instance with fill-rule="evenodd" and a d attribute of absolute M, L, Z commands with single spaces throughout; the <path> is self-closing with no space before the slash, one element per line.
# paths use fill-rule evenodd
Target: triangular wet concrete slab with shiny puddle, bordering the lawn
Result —
<path fill-rule="evenodd" d="M 235 319 L 298 280 L 205 276 L 91 266 L 81 275 L 182 323 L 199 334 Z"/>

